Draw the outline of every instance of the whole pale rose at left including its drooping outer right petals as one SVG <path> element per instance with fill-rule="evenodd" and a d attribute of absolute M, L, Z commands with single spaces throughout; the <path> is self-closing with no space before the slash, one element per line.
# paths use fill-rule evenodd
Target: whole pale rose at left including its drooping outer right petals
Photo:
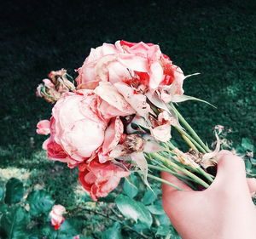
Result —
<path fill-rule="evenodd" d="M 124 134 L 119 115 L 134 112 L 131 105 L 121 95 L 119 99 L 117 94 L 112 95 L 110 91 L 108 94 L 108 90 L 103 96 L 99 94 L 105 101 L 94 91 L 84 89 L 58 100 L 52 109 L 50 122 L 38 122 L 38 134 L 50 133 L 43 145 L 49 158 L 67 162 L 70 168 L 92 159 L 97 153 L 100 162 L 108 161 L 109 152 Z"/>

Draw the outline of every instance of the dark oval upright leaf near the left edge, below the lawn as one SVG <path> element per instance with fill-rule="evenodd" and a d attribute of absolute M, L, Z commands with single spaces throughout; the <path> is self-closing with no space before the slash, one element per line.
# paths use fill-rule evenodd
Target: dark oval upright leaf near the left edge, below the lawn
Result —
<path fill-rule="evenodd" d="M 6 184 L 4 202 L 7 204 L 14 204 L 20 202 L 24 194 L 23 184 L 19 179 L 9 179 Z"/>

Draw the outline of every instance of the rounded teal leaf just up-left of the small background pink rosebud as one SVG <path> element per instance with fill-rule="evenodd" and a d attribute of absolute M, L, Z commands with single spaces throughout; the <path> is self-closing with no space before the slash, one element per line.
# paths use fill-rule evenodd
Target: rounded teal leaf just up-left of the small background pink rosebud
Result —
<path fill-rule="evenodd" d="M 42 213 L 49 213 L 54 205 L 49 193 L 44 190 L 32 191 L 26 199 L 29 203 L 32 216 L 38 216 Z"/>

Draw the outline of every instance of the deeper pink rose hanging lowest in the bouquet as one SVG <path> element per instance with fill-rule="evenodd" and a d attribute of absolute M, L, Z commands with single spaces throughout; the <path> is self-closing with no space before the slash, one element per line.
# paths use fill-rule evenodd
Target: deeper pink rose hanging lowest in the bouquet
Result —
<path fill-rule="evenodd" d="M 122 177 L 131 174 L 124 168 L 120 168 L 110 161 L 100 163 L 95 158 L 89 163 L 84 162 L 80 165 L 79 181 L 90 193 L 91 199 L 97 201 L 98 197 L 108 196 L 108 193 L 119 185 L 119 180 Z"/>

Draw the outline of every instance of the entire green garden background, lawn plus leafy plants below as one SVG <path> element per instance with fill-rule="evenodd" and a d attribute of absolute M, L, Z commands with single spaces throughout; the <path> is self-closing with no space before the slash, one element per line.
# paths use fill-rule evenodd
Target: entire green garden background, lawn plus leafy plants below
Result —
<path fill-rule="evenodd" d="M 36 97 L 38 83 L 49 71 L 61 68 L 76 77 L 73 70 L 82 65 L 91 47 L 103 42 L 125 39 L 159 43 L 162 52 L 180 65 L 185 74 L 201 72 L 184 83 L 185 93 L 207 100 L 218 109 L 199 102 L 185 102 L 179 104 L 180 111 L 208 144 L 215 140 L 212 128 L 216 124 L 231 128 L 229 134 L 222 136 L 226 147 L 235 148 L 244 156 L 249 177 L 256 174 L 253 157 L 256 4 L 253 0 L 143 0 L 140 3 L 133 0 L 25 0 L 0 4 L 2 239 L 177 236 L 160 208 L 160 185 L 155 185 L 154 195 L 142 188 L 140 179 L 131 176 L 129 182 L 125 179 L 124 185 L 119 185 L 104 202 L 91 202 L 79 186 L 76 169 L 49 161 L 41 150 L 44 139 L 36 134 L 36 124 L 49 118 L 51 105 Z M 11 179 L 14 177 L 16 179 Z M 10 194 L 10 185 L 18 188 L 12 189 L 15 193 Z M 124 191 L 120 192 L 122 186 Z M 26 211 L 29 204 L 26 196 L 33 191 L 44 191 L 40 196 L 49 198 L 49 205 L 55 203 L 67 208 L 67 220 L 58 234 L 50 226 L 50 207 L 42 209 L 44 213 Z M 144 206 L 138 207 L 137 203 Z M 127 214 L 123 210 L 126 204 L 131 210 L 143 209 Z M 20 216 L 15 219 L 17 213 Z M 12 226 L 14 234 L 9 234 L 9 223 L 19 220 L 22 224 Z M 73 228 L 70 230 L 73 234 L 63 232 L 68 226 Z M 43 230 L 44 227 L 48 229 Z M 22 237 L 20 228 L 21 231 L 25 228 L 30 237 Z M 34 233 L 29 234 L 29 230 Z M 46 237 L 40 237 L 36 231 L 45 231 Z"/>

